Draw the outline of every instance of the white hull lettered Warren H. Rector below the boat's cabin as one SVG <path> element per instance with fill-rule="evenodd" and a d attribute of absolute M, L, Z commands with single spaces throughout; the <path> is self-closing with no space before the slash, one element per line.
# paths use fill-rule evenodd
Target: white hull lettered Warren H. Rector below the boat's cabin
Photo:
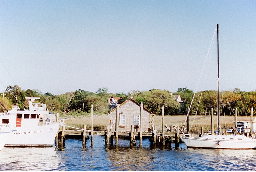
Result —
<path fill-rule="evenodd" d="M 60 124 L 15 127 L 5 146 L 52 146 Z M 16 131 L 17 130 L 17 131 Z"/>

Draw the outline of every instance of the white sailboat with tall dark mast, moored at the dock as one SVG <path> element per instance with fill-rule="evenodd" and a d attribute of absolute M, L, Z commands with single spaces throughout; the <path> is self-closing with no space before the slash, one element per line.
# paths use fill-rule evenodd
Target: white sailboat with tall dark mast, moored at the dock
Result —
<path fill-rule="evenodd" d="M 212 149 L 253 149 L 256 148 L 256 138 L 244 135 L 220 135 L 220 75 L 219 75 L 219 24 L 217 24 L 217 51 L 218 51 L 218 95 L 217 95 L 217 114 L 218 114 L 218 134 L 203 135 L 192 137 L 189 133 L 184 134 L 181 139 L 188 148 L 212 148 Z"/>

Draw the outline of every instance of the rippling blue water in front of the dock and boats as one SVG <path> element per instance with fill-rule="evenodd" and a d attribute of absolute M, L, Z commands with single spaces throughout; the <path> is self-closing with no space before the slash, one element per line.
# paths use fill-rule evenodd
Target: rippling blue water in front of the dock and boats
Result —
<path fill-rule="evenodd" d="M 187 149 L 152 147 L 143 139 L 142 148 L 118 140 L 118 147 L 106 147 L 102 136 L 88 140 L 67 139 L 65 147 L 8 148 L 0 151 L 0 171 L 216 171 L 256 170 L 256 150 Z M 174 146 L 174 144 L 172 144 Z"/>

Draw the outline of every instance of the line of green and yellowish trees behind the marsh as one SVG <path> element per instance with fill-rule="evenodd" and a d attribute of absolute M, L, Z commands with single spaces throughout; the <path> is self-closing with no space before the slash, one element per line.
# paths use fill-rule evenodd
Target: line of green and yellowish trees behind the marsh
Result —
<path fill-rule="evenodd" d="M 174 95 L 180 95 L 183 103 L 174 100 Z M 108 88 L 99 88 L 96 93 L 84 90 L 66 92 L 54 95 L 49 92 L 42 93 L 36 89 L 21 90 L 19 86 L 7 86 L 5 92 L 0 94 L 0 102 L 8 110 L 12 105 L 18 105 L 20 109 L 28 109 L 28 100 L 25 97 L 40 97 L 36 100 L 46 104 L 46 108 L 54 112 L 77 112 L 90 113 L 93 104 L 96 115 L 107 114 L 109 111 L 108 98 L 120 97 L 118 104 L 123 103 L 132 97 L 138 103 L 143 103 L 144 107 L 153 114 L 160 115 L 161 108 L 164 106 L 164 115 L 187 114 L 187 107 L 190 107 L 191 115 L 209 115 L 211 108 L 216 112 L 217 91 L 206 90 L 194 92 L 188 88 L 178 88 L 175 93 L 168 90 L 152 89 L 149 91 L 133 90 L 128 93 L 109 93 Z M 194 97 L 193 103 L 192 99 Z M 256 91 L 244 92 L 239 88 L 232 91 L 220 92 L 220 111 L 221 115 L 234 115 L 235 108 L 238 115 L 247 116 L 253 107 L 253 114 L 256 114 Z M 19 103 L 18 103 L 19 102 Z M 4 110 L 0 105 L 0 109 Z"/>

